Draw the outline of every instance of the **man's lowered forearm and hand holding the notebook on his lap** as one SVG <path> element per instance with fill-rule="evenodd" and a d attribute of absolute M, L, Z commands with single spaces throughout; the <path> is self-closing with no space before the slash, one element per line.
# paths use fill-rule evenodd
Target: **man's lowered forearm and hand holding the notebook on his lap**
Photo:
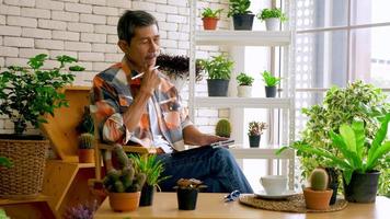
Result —
<path fill-rule="evenodd" d="M 194 125 L 183 129 L 184 143 L 195 146 L 208 146 L 210 143 L 227 140 L 228 138 L 200 132 Z"/>

